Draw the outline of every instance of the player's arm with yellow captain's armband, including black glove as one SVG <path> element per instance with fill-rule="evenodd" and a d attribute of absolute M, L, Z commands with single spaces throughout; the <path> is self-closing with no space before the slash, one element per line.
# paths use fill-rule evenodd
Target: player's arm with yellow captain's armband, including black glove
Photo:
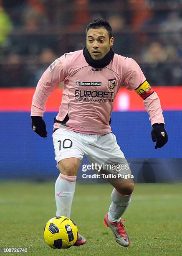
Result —
<path fill-rule="evenodd" d="M 162 148 L 167 143 L 167 132 L 164 129 L 164 117 L 159 97 L 147 82 L 139 65 L 133 59 L 128 60 L 125 83 L 128 90 L 135 90 L 142 97 L 144 108 L 149 114 L 152 125 L 152 141 L 156 141 L 155 148 Z"/>

